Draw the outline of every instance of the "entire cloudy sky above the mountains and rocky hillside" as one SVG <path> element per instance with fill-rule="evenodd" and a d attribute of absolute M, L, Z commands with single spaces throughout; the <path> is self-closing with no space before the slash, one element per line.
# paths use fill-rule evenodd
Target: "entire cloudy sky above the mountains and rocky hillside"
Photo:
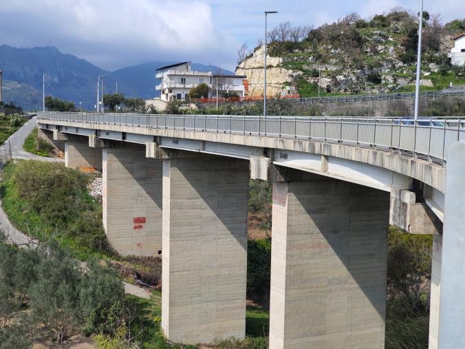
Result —
<path fill-rule="evenodd" d="M 465 17 L 464 0 L 424 0 L 445 22 Z M 418 12 L 418 0 L 0 0 L 0 44 L 53 45 L 102 68 L 191 60 L 233 69 L 241 43 L 263 37 L 263 10 L 280 21 L 321 25 L 395 6 Z"/>

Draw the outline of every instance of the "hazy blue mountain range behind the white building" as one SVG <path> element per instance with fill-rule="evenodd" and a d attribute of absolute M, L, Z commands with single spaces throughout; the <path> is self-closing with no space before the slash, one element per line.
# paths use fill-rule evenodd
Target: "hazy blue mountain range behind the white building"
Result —
<path fill-rule="evenodd" d="M 122 67 L 114 72 L 104 70 L 85 59 L 64 54 L 56 47 L 17 48 L 0 45 L 0 70 L 3 71 L 3 101 L 12 102 L 25 110 L 40 109 L 42 105 L 42 82 L 45 76 L 45 95 L 72 101 L 85 109 L 96 103 L 97 76 L 105 76 L 105 94 L 118 92 L 127 97 L 144 99 L 160 96 L 155 92 L 155 70 L 175 61 L 151 61 L 131 67 Z M 193 70 L 218 71 L 215 65 L 192 63 Z M 231 73 L 221 69 L 221 72 Z"/>

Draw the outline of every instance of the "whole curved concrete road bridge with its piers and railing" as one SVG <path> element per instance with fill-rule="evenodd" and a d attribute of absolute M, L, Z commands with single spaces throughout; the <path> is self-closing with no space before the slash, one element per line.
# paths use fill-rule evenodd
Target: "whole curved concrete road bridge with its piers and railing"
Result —
<path fill-rule="evenodd" d="M 270 348 L 384 347 L 389 224 L 434 234 L 429 346 L 465 348 L 464 121 L 37 121 L 68 167 L 102 171 L 111 246 L 162 254 L 171 341 L 244 338 L 248 180 L 259 178 L 273 183 Z"/>

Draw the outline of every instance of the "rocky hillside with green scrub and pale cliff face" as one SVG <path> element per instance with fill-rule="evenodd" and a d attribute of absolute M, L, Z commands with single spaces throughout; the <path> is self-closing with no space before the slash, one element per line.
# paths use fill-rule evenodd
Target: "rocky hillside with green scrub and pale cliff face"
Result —
<path fill-rule="evenodd" d="M 451 67 L 447 52 L 453 36 L 465 31 L 465 20 L 446 25 L 423 14 L 421 89 L 443 89 L 465 84 L 465 69 Z M 336 23 L 306 30 L 281 23 L 268 33 L 268 96 L 299 93 L 376 94 L 415 88 L 418 19 L 395 9 L 370 21 L 349 14 Z M 263 96 L 263 46 L 242 61 L 237 74 L 249 81 L 249 96 Z"/>

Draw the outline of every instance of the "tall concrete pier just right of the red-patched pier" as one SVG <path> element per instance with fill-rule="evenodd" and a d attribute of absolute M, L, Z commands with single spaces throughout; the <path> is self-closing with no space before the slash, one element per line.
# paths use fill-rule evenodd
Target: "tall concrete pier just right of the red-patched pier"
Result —
<path fill-rule="evenodd" d="M 210 342 L 246 330 L 248 161 L 163 160 L 162 328 Z"/>

